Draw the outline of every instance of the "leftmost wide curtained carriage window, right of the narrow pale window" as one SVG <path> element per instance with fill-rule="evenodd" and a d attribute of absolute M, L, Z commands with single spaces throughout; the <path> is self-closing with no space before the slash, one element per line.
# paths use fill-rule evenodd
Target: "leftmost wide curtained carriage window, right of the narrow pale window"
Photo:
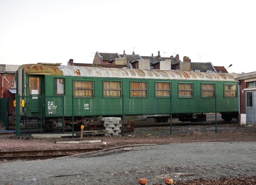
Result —
<path fill-rule="evenodd" d="M 74 81 L 74 96 L 93 97 L 93 82 Z"/>

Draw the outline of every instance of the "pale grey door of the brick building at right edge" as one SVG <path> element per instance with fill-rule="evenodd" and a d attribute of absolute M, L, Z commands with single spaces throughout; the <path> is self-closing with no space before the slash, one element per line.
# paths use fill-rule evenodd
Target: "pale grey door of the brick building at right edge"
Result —
<path fill-rule="evenodd" d="M 256 90 L 246 91 L 246 123 L 256 125 Z"/>

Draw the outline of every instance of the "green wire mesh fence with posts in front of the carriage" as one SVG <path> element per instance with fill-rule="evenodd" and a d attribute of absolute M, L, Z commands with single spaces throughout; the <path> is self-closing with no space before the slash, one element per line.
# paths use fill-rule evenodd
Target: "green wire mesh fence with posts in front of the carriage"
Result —
<path fill-rule="evenodd" d="M 237 98 L 17 96 L 17 102 L 17 136 L 170 135 L 250 130 L 238 124 Z"/>

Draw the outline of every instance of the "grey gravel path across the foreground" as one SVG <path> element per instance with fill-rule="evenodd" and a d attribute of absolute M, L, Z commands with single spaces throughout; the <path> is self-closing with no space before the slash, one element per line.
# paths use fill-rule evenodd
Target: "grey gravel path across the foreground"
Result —
<path fill-rule="evenodd" d="M 256 142 L 147 145 L 0 163 L 0 184 L 148 184 L 256 174 Z"/>

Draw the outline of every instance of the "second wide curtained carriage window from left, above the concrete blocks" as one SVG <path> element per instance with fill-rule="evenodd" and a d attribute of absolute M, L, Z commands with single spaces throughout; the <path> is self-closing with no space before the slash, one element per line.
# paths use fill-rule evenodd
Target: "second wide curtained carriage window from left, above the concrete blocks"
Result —
<path fill-rule="evenodd" d="M 104 81 L 104 97 L 121 97 L 121 82 Z"/>

